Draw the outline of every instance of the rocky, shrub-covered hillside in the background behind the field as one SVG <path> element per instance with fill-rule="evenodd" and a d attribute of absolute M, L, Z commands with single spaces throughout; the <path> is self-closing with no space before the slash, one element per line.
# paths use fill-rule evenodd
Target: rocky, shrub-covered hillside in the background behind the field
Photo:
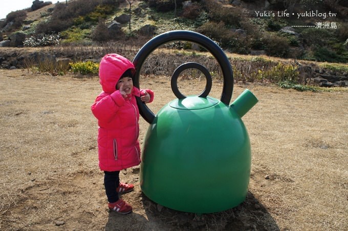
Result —
<path fill-rule="evenodd" d="M 129 40 L 143 44 L 163 32 L 191 30 L 231 53 L 348 62 L 347 1 L 132 1 L 130 19 L 125 0 L 37 2 L 45 6 L 12 12 L 0 23 L 0 46 L 10 41 L 10 46 L 26 41 L 27 47 Z M 11 39 L 13 33 L 23 36 Z"/>

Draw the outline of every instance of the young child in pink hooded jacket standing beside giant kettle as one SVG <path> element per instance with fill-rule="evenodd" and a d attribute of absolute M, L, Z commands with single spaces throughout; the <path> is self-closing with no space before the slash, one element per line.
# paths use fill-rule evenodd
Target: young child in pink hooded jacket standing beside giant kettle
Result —
<path fill-rule="evenodd" d="M 104 186 L 108 208 L 118 213 L 132 212 L 132 207 L 119 198 L 119 193 L 134 189 L 120 183 L 120 170 L 140 164 L 139 110 L 136 96 L 147 103 L 154 99 L 151 90 L 133 86 L 135 67 L 128 59 L 105 55 L 99 65 L 102 92 L 91 106 L 98 119 L 99 168 L 104 171 Z"/>

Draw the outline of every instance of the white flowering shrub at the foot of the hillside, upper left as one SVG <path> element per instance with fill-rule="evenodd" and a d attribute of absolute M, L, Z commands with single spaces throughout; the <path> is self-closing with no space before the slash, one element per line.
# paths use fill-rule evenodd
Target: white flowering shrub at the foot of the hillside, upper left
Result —
<path fill-rule="evenodd" d="M 61 38 L 59 33 L 51 35 L 38 34 L 26 38 L 23 44 L 26 47 L 51 46 L 59 44 L 60 40 Z"/>

